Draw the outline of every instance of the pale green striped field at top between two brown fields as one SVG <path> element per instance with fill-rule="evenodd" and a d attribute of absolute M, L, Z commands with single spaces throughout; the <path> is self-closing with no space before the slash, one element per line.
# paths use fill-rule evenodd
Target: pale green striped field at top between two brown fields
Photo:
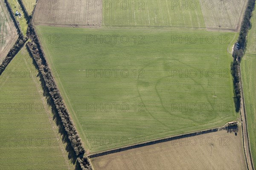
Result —
<path fill-rule="evenodd" d="M 110 6 L 108 0 L 103 0 L 103 26 L 206 28 L 198 1 L 184 2 L 189 6 L 187 9 L 186 6 L 180 8 L 180 3 L 172 0 L 128 0 L 116 3 L 115 7 L 113 2 Z"/>

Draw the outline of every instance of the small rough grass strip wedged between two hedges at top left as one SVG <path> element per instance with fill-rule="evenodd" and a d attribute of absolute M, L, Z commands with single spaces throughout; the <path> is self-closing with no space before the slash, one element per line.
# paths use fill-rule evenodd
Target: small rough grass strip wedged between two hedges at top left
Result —
<path fill-rule="evenodd" d="M 15 14 L 16 11 L 18 11 L 22 14 L 22 17 L 20 17 L 20 18 L 16 17 L 16 16 L 15 17 L 20 22 L 20 28 L 21 28 L 22 33 L 24 35 L 26 35 L 28 24 L 27 24 L 26 18 L 24 17 L 24 13 L 22 11 L 22 8 L 21 8 L 20 4 L 18 3 L 17 0 L 8 0 L 8 2 L 10 3 L 12 11 L 14 12 L 14 14 Z M 15 8 L 15 6 L 16 6 L 16 8 Z"/>

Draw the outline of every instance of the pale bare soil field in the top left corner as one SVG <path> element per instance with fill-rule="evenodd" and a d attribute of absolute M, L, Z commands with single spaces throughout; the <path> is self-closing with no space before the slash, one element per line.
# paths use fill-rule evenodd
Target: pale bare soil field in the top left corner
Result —
<path fill-rule="evenodd" d="M 10 17 L 6 4 L 0 1 L 0 63 L 17 40 L 17 30 Z"/>

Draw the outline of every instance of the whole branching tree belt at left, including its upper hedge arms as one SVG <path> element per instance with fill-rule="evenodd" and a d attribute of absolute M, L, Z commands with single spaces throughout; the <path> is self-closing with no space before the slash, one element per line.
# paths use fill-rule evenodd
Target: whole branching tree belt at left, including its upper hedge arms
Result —
<path fill-rule="evenodd" d="M 47 63 L 47 59 L 44 56 L 43 49 L 41 47 L 41 44 L 39 42 L 39 38 L 35 32 L 35 28 L 32 24 L 32 15 L 29 16 L 28 12 L 26 11 L 26 8 L 22 2 L 22 0 L 18 0 L 20 3 L 20 6 L 23 8 L 23 13 L 26 15 L 28 19 L 28 28 L 26 36 L 22 34 L 21 28 L 19 26 L 19 23 L 17 22 L 17 19 L 12 11 L 12 8 L 7 0 L 5 0 L 7 4 L 7 8 L 12 14 L 13 21 L 15 23 L 15 26 L 18 29 L 19 37 L 17 41 L 15 42 L 15 45 L 11 48 L 9 53 L 7 54 L 7 57 L 3 60 L 2 64 L 0 65 L 0 75 L 3 73 L 6 66 L 11 62 L 11 60 L 15 57 L 15 55 L 20 51 L 20 49 L 23 47 L 25 42 L 30 38 L 31 41 L 27 42 L 27 47 L 29 49 L 29 53 L 34 58 L 38 70 L 40 74 L 42 75 L 44 79 L 44 83 L 49 91 L 50 97 L 52 98 L 55 108 L 58 111 L 58 114 L 61 118 L 62 125 L 65 128 L 65 131 L 67 132 L 68 139 L 70 141 L 71 146 L 73 147 L 76 156 L 80 156 L 77 158 L 77 161 L 81 167 L 82 170 L 91 170 L 92 167 L 90 165 L 90 161 L 87 158 L 86 155 L 84 155 L 85 150 L 81 143 L 81 138 L 79 137 L 79 134 L 76 130 L 76 127 L 74 126 L 72 119 L 70 117 L 70 114 L 67 111 L 67 108 L 64 104 L 64 100 L 61 97 L 60 91 L 58 90 L 58 87 L 55 83 L 55 80 L 52 76 L 52 72 L 49 68 L 49 65 Z"/>

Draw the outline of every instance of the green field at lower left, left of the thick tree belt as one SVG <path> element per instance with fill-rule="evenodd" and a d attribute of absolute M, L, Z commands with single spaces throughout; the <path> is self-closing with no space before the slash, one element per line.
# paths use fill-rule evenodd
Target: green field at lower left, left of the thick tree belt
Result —
<path fill-rule="evenodd" d="M 0 76 L 0 169 L 74 169 L 26 48 Z"/>

